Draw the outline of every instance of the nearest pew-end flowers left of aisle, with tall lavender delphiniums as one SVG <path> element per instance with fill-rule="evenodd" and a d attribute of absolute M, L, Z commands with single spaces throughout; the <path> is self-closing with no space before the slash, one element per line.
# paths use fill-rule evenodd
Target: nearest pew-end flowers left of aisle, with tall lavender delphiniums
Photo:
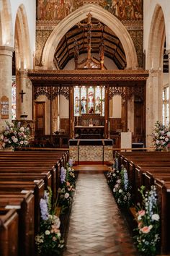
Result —
<path fill-rule="evenodd" d="M 35 236 L 35 244 L 41 256 L 61 255 L 63 239 L 61 239 L 60 224 L 58 216 L 55 216 L 55 209 L 51 207 L 51 189 L 45 192 L 40 200 L 41 222 L 40 233 Z"/>

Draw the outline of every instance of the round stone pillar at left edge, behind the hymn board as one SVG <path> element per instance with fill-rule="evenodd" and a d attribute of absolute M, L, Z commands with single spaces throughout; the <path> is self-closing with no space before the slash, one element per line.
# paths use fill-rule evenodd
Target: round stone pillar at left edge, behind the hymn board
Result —
<path fill-rule="evenodd" d="M 9 118 L 1 119 L 0 129 L 5 121 L 12 121 L 12 54 L 14 48 L 11 46 L 0 46 L 0 98 L 6 96 L 9 99 Z"/>

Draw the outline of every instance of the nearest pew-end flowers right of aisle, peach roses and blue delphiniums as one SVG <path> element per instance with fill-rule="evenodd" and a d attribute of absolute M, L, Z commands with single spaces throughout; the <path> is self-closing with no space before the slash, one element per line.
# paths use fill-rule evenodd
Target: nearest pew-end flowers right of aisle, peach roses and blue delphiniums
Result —
<path fill-rule="evenodd" d="M 158 213 L 158 200 L 156 187 L 152 186 L 150 191 L 145 191 L 142 186 L 139 189 L 143 198 L 143 205 L 138 208 L 138 228 L 135 242 L 138 250 L 145 256 L 153 256 L 158 252 L 160 241 L 160 216 Z"/>

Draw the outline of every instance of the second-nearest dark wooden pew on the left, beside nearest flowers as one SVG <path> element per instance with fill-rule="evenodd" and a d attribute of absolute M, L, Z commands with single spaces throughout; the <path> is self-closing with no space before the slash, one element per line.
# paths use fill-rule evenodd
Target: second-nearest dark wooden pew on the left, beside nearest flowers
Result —
<path fill-rule="evenodd" d="M 19 256 L 30 256 L 35 254 L 35 213 L 34 195 L 32 192 L 26 194 L 0 194 L 0 208 L 16 208 L 19 216 L 18 225 L 18 252 Z"/>

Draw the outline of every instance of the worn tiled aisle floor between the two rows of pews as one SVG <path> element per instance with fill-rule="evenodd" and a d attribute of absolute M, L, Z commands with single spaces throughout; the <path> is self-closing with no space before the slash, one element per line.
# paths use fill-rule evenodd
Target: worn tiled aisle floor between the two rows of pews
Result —
<path fill-rule="evenodd" d="M 138 255 L 104 174 L 79 173 L 64 256 Z"/>

